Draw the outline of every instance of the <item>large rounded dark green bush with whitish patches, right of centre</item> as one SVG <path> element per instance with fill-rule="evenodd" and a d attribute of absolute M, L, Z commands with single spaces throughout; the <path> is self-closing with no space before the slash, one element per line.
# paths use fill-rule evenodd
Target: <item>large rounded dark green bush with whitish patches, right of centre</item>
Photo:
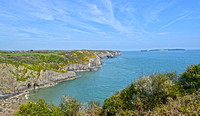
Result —
<path fill-rule="evenodd" d="M 166 103 L 167 97 L 174 98 L 179 93 L 176 77 L 175 73 L 159 73 L 140 78 L 105 100 L 104 115 L 118 115 L 126 110 L 147 111 Z"/>

